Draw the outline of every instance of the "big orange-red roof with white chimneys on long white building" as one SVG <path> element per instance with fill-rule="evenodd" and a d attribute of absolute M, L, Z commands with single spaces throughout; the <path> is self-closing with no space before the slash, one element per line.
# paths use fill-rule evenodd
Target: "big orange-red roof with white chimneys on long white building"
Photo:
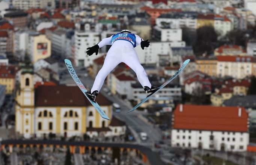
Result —
<path fill-rule="evenodd" d="M 182 107 L 181 107 L 182 106 Z M 182 109 L 182 112 L 180 111 Z M 174 129 L 247 132 L 248 114 L 238 107 L 178 105 L 174 112 Z"/>

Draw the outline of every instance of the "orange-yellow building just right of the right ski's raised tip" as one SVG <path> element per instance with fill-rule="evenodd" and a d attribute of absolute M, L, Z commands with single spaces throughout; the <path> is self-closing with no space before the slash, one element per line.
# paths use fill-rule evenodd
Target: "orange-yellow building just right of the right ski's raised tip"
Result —
<path fill-rule="evenodd" d="M 197 57 L 196 70 L 210 76 L 217 76 L 217 59 L 216 57 Z"/>

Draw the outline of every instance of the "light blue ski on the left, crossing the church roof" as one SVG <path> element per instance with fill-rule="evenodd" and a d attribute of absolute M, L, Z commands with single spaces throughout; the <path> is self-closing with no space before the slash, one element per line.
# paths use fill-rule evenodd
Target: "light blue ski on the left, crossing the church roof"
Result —
<path fill-rule="evenodd" d="M 75 69 L 72 66 L 71 61 L 68 59 L 65 59 L 65 64 L 68 68 L 69 74 L 71 75 L 71 77 L 73 78 L 77 86 L 80 88 L 80 90 L 83 92 L 84 96 L 86 96 L 87 89 L 84 87 L 83 83 L 79 80 L 77 74 L 75 73 Z M 101 109 L 101 107 L 98 105 L 97 102 L 93 102 L 87 96 L 86 98 L 90 101 L 90 103 L 94 106 L 94 108 L 99 112 L 102 118 L 110 120 L 108 116 L 104 113 L 104 111 Z"/>

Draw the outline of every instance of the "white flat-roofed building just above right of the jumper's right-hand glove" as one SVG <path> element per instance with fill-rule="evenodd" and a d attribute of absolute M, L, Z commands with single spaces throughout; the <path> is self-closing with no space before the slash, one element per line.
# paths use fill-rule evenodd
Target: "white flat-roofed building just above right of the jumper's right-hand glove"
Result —
<path fill-rule="evenodd" d="M 182 41 L 182 29 L 161 28 L 155 26 L 152 31 L 152 40 L 154 41 Z"/>

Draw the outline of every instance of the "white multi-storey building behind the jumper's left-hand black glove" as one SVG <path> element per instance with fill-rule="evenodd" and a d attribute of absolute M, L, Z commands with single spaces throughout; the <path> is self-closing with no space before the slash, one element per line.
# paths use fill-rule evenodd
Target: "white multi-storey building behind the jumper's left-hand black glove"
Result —
<path fill-rule="evenodd" d="M 75 65 L 90 66 L 94 59 L 98 58 L 95 53 L 88 56 L 85 52 L 88 47 L 92 47 L 99 42 L 98 32 L 81 32 L 75 31 Z"/>

